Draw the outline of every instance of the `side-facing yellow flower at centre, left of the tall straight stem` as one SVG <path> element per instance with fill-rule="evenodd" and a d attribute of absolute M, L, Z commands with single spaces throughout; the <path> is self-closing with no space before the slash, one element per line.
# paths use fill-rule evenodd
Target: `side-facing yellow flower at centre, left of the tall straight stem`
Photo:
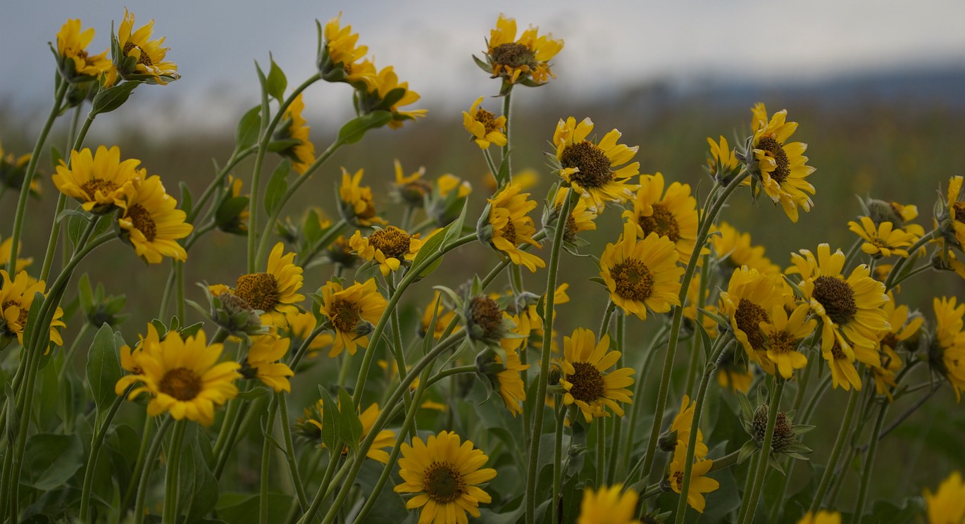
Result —
<path fill-rule="evenodd" d="M 537 229 L 533 219 L 526 213 L 537 207 L 535 201 L 529 200 L 529 193 L 521 193 L 522 188 L 515 183 L 507 184 L 503 190 L 493 195 L 489 201 L 488 225 L 492 227 L 491 236 L 481 235 L 490 245 L 503 252 L 516 265 L 525 265 L 530 271 L 537 267 L 546 267 L 542 259 L 527 253 L 517 246 L 527 243 L 539 247 L 533 239 Z"/>

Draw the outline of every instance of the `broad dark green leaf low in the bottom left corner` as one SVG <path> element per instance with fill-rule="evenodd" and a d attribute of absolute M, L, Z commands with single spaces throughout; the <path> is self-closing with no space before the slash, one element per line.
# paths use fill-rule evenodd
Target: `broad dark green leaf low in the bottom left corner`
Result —
<path fill-rule="evenodd" d="M 48 491 L 67 483 L 80 469 L 84 445 L 76 434 L 41 433 L 27 440 L 20 483 Z"/>

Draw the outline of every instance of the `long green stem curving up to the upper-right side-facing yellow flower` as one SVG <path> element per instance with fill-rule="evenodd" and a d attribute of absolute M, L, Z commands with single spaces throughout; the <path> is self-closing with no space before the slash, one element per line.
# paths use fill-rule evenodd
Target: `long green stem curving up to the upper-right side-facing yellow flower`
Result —
<path fill-rule="evenodd" d="M 667 408 L 667 396 L 670 392 L 670 380 L 671 372 L 674 371 L 674 358 L 676 357 L 676 344 L 680 336 L 680 322 L 683 318 L 683 304 L 687 300 L 687 289 L 690 287 L 690 281 L 694 276 L 694 269 L 697 267 L 697 259 L 701 255 L 701 249 L 703 244 L 706 242 L 707 234 L 710 231 L 710 226 L 717 219 L 717 215 L 720 213 L 724 203 L 727 201 L 731 193 L 740 186 L 740 182 L 750 176 L 749 171 L 744 171 L 740 175 L 737 175 L 731 180 L 731 183 L 724 188 L 713 204 L 710 206 L 710 210 L 707 211 L 706 216 L 703 217 L 703 222 L 701 223 L 701 229 L 697 234 L 697 243 L 694 246 L 694 251 L 690 255 L 690 260 L 687 262 L 687 269 L 683 273 L 683 281 L 680 283 L 680 293 L 679 302 L 680 305 L 674 308 L 674 320 L 670 328 L 670 340 L 667 342 L 667 353 L 664 357 L 663 372 L 660 374 L 660 389 L 657 390 L 657 400 L 653 407 L 653 422 L 652 428 L 650 429 L 650 439 L 647 443 L 647 451 L 644 452 L 643 460 L 643 474 L 645 478 L 648 478 L 650 474 L 650 468 L 653 466 L 653 459 L 655 458 L 655 451 L 657 447 L 657 440 L 660 438 L 660 428 L 663 426 L 664 410 Z"/>

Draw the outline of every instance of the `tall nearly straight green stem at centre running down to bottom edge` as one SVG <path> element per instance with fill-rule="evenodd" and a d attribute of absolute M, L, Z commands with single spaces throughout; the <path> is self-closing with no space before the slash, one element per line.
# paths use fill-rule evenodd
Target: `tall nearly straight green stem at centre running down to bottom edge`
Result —
<path fill-rule="evenodd" d="M 509 95 L 507 95 L 509 98 Z M 509 99 L 507 99 L 507 110 L 509 110 Z M 507 122 L 509 131 L 509 122 Z M 560 255 L 563 251 L 563 234 L 566 230 L 566 218 L 573 205 L 575 192 L 570 192 L 560 210 L 560 217 L 556 221 L 556 230 L 553 232 L 553 245 L 550 252 L 549 267 L 546 277 L 546 296 L 543 299 L 545 309 L 543 310 L 543 346 L 542 358 L 539 361 L 539 377 L 537 382 L 536 412 L 534 413 L 533 432 L 530 438 L 529 467 L 526 470 L 526 524 L 534 524 L 536 521 L 537 510 L 537 469 L 539 459 L 539 441 L 542 434 L 542 421 L 545 409 L 543 403 L 546 399 L 546 375 L 549 373 L 550 353 L 553 345 L 553 306 L 554 291 L 556 290 L 556 277 L 560 270 Z M 602 466 L 602 464 L 600 464 Z"/>

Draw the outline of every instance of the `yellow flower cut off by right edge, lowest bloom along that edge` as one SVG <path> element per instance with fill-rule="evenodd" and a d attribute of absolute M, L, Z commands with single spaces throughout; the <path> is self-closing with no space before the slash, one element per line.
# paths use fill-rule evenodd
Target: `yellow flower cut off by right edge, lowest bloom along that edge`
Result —
<path fill-rule="evenodd" d="M 928 364 L 932 370 L 949 379 L 955 390 L 955 398 L 961 400 L 965 390 L 965 332 L 962 316 L 965 303 L 958 304 L 955 297 L 935 297 L 935 335 L 928 346 Z"/>

